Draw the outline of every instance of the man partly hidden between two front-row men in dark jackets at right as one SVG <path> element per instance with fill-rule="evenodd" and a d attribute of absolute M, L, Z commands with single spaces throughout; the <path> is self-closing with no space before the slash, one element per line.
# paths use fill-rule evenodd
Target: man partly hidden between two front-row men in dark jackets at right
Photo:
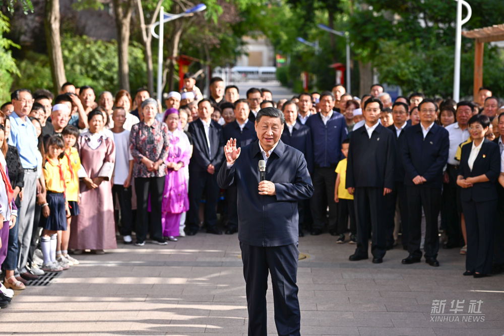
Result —
<path fill-rule="evenodd" d="M 404 142 L 404 131 L 411 127 L 407 120 L 409 106 L 402 102 L 395 102 L 392 105 L 392 119 L 394 124 L 389 126 L 396 135 L 396 164 L 394 165 L 394 188 L 385 198 L 387 200 L 387 249 L 393 248 L 394 239 L 394 218 L 396 214 L 396 204 L 399 205 L 399 217 L 402 227 L 402 244 L 404 249 L 408 248 L 408 207 L 406 202 L 406 189 L 404 187 L 404 166 L 401 152 Z"/>

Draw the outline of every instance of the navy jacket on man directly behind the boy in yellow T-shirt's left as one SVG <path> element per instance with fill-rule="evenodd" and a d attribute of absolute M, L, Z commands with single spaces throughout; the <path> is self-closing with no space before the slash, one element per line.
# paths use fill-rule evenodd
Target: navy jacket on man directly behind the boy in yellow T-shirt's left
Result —
<path fill-rule="evenodd" d="M 343 159 L 341 142 L 348 137 L 345 118 L 341 113 L 333 112 L 331 119 L 324 125 L 321 112 L 312 114 L 306 120 L 311 130 L 313 144 L 313 162 L 319 167 L 336 167 Z"/>

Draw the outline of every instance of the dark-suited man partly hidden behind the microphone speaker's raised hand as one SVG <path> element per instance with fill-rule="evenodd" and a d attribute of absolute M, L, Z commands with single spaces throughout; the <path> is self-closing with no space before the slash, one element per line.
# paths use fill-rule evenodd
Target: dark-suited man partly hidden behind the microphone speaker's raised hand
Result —
<path fill-rule="evenodd" d="M 248 120 L 250 106 L 246 99 L 238 99 L 234 102 L 235 121 L 223 127 L 224 139 L 236 139 L 236 147 L 244 147 L 257 140 L 254 121 Z M 238 213 L 236 211 L 236 185 L 229 186 L 226 190 L 228 222 L 226 234 L 238 232 Z"/>

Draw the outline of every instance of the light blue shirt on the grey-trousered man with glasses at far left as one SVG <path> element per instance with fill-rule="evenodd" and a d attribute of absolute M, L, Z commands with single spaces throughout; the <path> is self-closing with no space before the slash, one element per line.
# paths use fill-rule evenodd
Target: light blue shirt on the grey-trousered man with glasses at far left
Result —
<path fill-rule="evenodd" d="M 25 117 L 26 121 L 23 121 L 16 112 L 12 112 L 10 120 L 11 136 L 8 141 L 9 145 L 16 146 L 18 149 L 21 166 L 24 169 L 37 168 L 38 139 L 35 126 L 28 119 L 28 116 Z"/>

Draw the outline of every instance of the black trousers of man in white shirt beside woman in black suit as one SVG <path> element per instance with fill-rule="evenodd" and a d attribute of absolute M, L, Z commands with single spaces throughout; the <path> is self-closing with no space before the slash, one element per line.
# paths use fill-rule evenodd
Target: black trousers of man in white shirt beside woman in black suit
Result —
<path fill-rule="evenodd" d="M 448 244 L 459 246 L 463 242 L 462 228 L 460 226 L 460 191 L 457 186 L 457 168 L 453 165 L 447 167 L 448 183 L 443 184 L 442 218 L 445 223 L 445 232 Z M 464 244 L 462 244 L 463 246 Z"/>

